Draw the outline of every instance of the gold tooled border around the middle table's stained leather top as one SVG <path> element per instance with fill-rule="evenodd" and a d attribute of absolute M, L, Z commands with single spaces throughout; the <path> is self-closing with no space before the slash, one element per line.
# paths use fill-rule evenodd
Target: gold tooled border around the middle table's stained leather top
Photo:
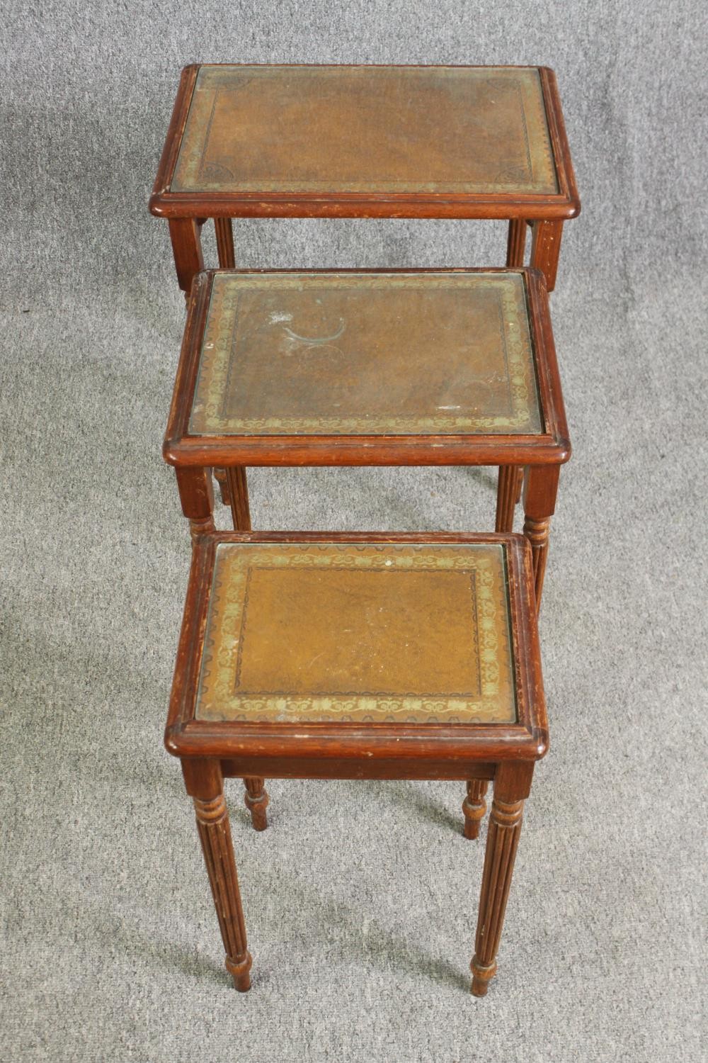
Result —
<path fill-rule="evenodd" d="M 501 342 L 508 367 L 512 414 L 497 417 L 235 418 L 224 415 L 236 358 L 240 292 L 296 288 L 487 288 L 499 299 Z M 540 411 L 523 279 L 520 273 L 218 273 L 213 277 L 189 418 L 193 436 L 540 435 Z"/>

